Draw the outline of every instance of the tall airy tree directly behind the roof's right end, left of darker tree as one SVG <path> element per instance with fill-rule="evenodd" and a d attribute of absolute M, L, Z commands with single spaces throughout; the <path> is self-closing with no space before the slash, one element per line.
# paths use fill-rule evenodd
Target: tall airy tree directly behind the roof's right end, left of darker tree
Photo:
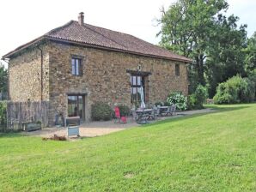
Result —
<path fill-rule="evenodd" d="M 178 0 L 167 11 L 162 9 L 162 35 L 160 45 L 191 57 L 193 78 L 205 85 L 204 61 L 207 56 L 210 35 L 215 31 L 215 16 L 228 9 L 225 0 Z"/>

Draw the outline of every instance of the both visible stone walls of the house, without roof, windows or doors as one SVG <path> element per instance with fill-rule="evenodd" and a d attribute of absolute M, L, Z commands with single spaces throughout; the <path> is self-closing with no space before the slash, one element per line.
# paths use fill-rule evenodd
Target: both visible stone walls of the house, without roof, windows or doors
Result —
<path fill-rule="evenodd" d="M 88 121 L 90 106 L 95 101 L 130 106 L 131 74 L 127 69 L 135 71 L 138 66 L 151 74 L 145 83 L 149 103 L 167 99 L 170 91 L 188 92 L 186 63 L 55 42 L 47 42 L 41 47 L 43 99 L 50 101 L 52 122 L 59 112 L 67 116 L 69 93 L 85 95 L 85 119 Z M 71 74 L 72 56 L 82 57 L 82 76 Z M 40 100 L 40 50 L 26 51 L 9 63 L 10 99 Z M 175 75 L 177 63 L 180 64 L 180 75 Z"/>

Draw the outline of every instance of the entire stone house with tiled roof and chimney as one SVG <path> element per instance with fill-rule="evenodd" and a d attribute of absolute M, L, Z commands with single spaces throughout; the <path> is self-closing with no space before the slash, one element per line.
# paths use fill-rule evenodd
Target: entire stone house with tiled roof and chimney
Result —
<path fill-rule="evenodd" d="M 135 105 L 143 86 L 145 103 L 188 93 L 191 60 L 142 39 L 78 21 L 21 45 L 9 59 L 9 99 L 49 101 L 49 120 L 58 113 L 90 120 L 96 101 Z"/>

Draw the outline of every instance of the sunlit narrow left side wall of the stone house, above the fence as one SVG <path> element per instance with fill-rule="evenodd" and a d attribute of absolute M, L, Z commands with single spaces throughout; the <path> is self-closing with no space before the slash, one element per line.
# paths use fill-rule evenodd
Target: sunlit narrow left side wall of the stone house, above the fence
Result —
<path fill-rule="evenodd" d="M 49 53 L 43 50 L 43 100 L 49 100 Z M 41 53 L 34 48 L 9 60 L 9 97 L 12 101 L 41 100 Z"/>

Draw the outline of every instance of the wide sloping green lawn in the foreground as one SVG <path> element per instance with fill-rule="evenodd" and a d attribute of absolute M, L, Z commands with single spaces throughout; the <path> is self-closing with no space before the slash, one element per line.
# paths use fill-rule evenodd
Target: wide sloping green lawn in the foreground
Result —
<path fill-rule="evenodd" d="M 80 141 L 0 135 L 0 191 L 256 191 L 256 104 Z"/>

